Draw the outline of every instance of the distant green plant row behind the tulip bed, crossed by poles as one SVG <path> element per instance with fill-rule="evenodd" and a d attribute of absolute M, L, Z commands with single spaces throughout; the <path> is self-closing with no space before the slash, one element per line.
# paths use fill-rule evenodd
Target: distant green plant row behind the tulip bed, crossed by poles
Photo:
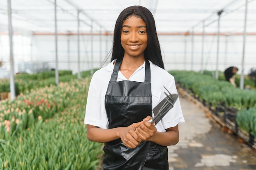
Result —
<path fill-rule="evenodd" d="M 59 72 L 59 82 L 68 82 L 71 79 L 76 79 L 77 74 L 72 75 L 71 71 L 61 70 Z M 82 77 L 90 75 L 90 71 L 81 72 Z M 39 78 L 35 78 L 38 76 Z M 43 79 L 40 79 L 43 78 Z M 19 74 L 15 76 L 15 94 L 18 96 L 21 93 L 30 91 L 35 87 L 45 87 L 50 85 L 55 85 L 55 72 L 40 72 L 37 74 Z M 0 80 L 0 93 L 10 92 L 10 82 L 9 79 Z"/>

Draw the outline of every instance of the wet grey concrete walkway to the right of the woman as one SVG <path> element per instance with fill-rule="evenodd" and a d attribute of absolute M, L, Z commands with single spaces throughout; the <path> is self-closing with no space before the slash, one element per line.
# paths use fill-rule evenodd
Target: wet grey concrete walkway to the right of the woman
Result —
<path fill-rule="evenodd" d="M 256 153 L 238 137 L 224 133 L 218 123 L 182 95 L 185 123 L 180 142 L 168 146 L 169 170 L 256 170 Z"/>

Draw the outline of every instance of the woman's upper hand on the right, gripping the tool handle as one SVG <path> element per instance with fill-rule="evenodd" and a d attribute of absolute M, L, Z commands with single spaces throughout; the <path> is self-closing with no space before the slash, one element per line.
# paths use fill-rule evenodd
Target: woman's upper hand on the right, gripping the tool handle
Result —
<path fill-rule="evenodd" d="M 154 124 L 148 122 L 148 120 L 150 120 L 150 119 L 151 119 L 151 117 L 147 116 L 143 121 L 137 123 L 137 126 L 135 126 L 136 127 L 135 132 L 138 135 L 138 137 L 140 139 L 142 139 L 142 141 L 148 140 L 157 131 Z"/>

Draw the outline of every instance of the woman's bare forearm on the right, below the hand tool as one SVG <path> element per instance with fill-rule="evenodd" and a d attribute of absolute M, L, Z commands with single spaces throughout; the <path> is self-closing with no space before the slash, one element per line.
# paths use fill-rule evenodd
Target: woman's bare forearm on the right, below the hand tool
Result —
<path fill-rule="evenodd" d="M 179 134 L 176 131 L 156 132 L 148 141 L 162 146 L 175 145 L 179 142 Z"/>

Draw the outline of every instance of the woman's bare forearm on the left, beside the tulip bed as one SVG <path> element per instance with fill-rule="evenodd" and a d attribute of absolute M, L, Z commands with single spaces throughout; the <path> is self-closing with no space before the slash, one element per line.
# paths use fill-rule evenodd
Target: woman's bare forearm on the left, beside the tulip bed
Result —
<path fill-rule="evenodd" d="M 123 127 L 113 129 L 101 129 L 96 126 L 87 125 L 87 138 L 93 142 L 110 142 L 120 138 L 118 132 L 121 131 L 122 128 Z"/>

